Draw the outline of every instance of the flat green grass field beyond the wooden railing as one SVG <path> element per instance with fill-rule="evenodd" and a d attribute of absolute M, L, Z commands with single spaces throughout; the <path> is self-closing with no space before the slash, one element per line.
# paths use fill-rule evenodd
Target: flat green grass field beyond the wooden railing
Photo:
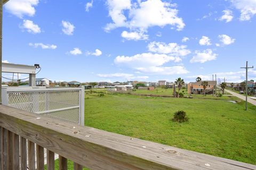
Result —
<path fill-rule="evenodd" d="M 161 90 L 164 95 L 167 92 Z M 244 101 L 234 104 L 228 100 L 237 98 L 197 95 L 189 99 L 126 94 L 99 97 L 99 94 L 87 93 L 85 125 L 256 164 L 256 107 L 249 104 L 246 112 Z M 171 121 L 173 113 L 179 110 L 187 112 L 189 122 Z"/>

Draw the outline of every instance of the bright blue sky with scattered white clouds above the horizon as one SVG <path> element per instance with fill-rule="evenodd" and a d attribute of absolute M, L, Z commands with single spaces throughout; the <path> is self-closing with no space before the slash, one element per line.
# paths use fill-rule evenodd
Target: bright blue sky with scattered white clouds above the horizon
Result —
<path fill-rule="evenodd" d="M 3 15 L 3 61 L 38 78 L 241 82 L 256 66 L 255 0 L 10 0 Z"/>

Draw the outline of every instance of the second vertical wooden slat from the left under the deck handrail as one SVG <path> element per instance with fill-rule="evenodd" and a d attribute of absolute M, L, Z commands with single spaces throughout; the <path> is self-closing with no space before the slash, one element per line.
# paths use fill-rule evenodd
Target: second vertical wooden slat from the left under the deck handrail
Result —
<path fill-rule="evenodd" d="M 13 169 L 13 133 L 7 132 L 7 169 Z"/>

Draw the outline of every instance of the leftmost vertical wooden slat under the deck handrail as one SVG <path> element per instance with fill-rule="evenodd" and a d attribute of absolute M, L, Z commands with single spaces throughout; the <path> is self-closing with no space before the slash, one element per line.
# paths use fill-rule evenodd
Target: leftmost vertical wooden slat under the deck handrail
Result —
<path fill-rule="evenodd" d="M 7 170 L 7 130 L 2 128 L 2 169 Z"/>

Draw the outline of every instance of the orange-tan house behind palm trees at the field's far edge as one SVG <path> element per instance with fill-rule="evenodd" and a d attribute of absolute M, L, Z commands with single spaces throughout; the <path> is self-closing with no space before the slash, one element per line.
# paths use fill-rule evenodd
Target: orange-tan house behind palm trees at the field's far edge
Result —
<path fill-rule="evenodd" d="M 201 85 L 203 81 L 199 82 L 190 82 L 188 83 L 188 94 L 203 94 L 204 88 Z M 212 94 L 214 91 L 214 88 L 217 84 L 217 81 L 207 81 L 208 86 L 205 89 L 206 94 Z"/>

